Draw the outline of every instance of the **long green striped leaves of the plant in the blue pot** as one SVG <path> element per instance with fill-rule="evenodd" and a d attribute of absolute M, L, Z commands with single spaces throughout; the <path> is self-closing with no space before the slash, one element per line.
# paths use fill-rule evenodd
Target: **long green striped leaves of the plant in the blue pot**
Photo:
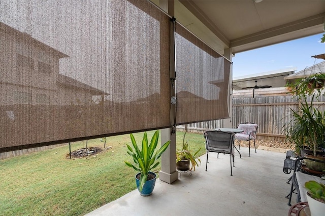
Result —
<path fill-rule="evenodd" d="M 141 173 L 139 190 L 142 191 L 143 186 L 147 181 L 149 171 L 155 168 L 159 164 L 158 159 L 160 158 L 161 154 L 163 154 L 165 150 L 168 148 L 170 141 L 167 141 L 163 146 L 159 148 L 158 151 L 155 152 L 155 149 L 158 144 L 158 137 L 159 137 L 158 131 L 156 131 L 152 136 L 150 144 L 148 143 L 147 133 L 146 132 L 144 133 L 141 150 L 139 149 L 133 134 L 131 134 L 130 137 L 134 149 L 132 149 L 131 146 L 126 144 L 128 149 L 127 154 L 133 158 L 133 161 L 136 165 L 133 165 L 128 161 L 124 161 L 124 162 L 127 166 L 134 168 L 135 170 Z"/>

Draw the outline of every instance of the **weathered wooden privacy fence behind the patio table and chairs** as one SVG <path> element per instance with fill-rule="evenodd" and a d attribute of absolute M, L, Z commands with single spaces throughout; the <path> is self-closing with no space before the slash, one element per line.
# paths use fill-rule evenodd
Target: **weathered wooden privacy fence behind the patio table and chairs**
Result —
<path fill-rule="evenodd" d="M 320 96 L 319 101 L 313 104 L 324 111 L 324 102 L 325 97 Z M 298 105 L 298 98 L 294 98 L 285 87 L 233 91 L 232 127 L 241 122 L 254 122 L 258 124 L 257 139 L 284 141 L 282 127 L 290 120 L 291 109 L 297 110 Z M 192 123 L 186 127 L 189 132 L 203 133 L 206 129 L 223 127 L 223 120 Z M 185 126 L 178 128 L 183 130 Z"/>

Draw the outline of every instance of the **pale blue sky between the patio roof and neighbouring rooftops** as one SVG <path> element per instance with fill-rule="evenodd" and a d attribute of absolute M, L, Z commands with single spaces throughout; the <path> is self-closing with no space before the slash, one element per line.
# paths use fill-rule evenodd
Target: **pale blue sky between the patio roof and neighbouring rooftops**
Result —
<path fill-rule="evenodd" d="M 283 42 L 264 48 L 236 53 L 233 57 L 233 77 L 297 67 L 304 70 L 324 60 L 311 56 L 324 54 L 323 33 Z M 325 71 L 324 71 L 325 72 Z"/>

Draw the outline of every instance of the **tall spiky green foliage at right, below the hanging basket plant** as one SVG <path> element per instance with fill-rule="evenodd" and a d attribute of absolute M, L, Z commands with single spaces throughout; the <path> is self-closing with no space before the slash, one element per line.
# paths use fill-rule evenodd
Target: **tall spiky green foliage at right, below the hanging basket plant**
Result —
<path fill-rule="evenodd" d="M 316 150 L 324 143 L 325 113 L 313 106 L 314 96 L 310 104 L 305 98 L 300 102 L 298 111 L 291 109 L 291 120 L 283 126 L 286 141 L 295 143 L 297 148 L 307 146 L 316 156 Z"/>

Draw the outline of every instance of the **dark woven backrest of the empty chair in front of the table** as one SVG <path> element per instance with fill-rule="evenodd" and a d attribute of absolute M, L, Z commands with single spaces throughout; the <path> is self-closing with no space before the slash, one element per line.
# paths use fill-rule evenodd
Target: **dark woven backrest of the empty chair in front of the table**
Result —
<path fill-rule="evenodd" d="M 206 149 L 212 151 L 229 151 L 231 152 L 233 144 L 233 133 L 221 131 L 206 131 Z"/>

